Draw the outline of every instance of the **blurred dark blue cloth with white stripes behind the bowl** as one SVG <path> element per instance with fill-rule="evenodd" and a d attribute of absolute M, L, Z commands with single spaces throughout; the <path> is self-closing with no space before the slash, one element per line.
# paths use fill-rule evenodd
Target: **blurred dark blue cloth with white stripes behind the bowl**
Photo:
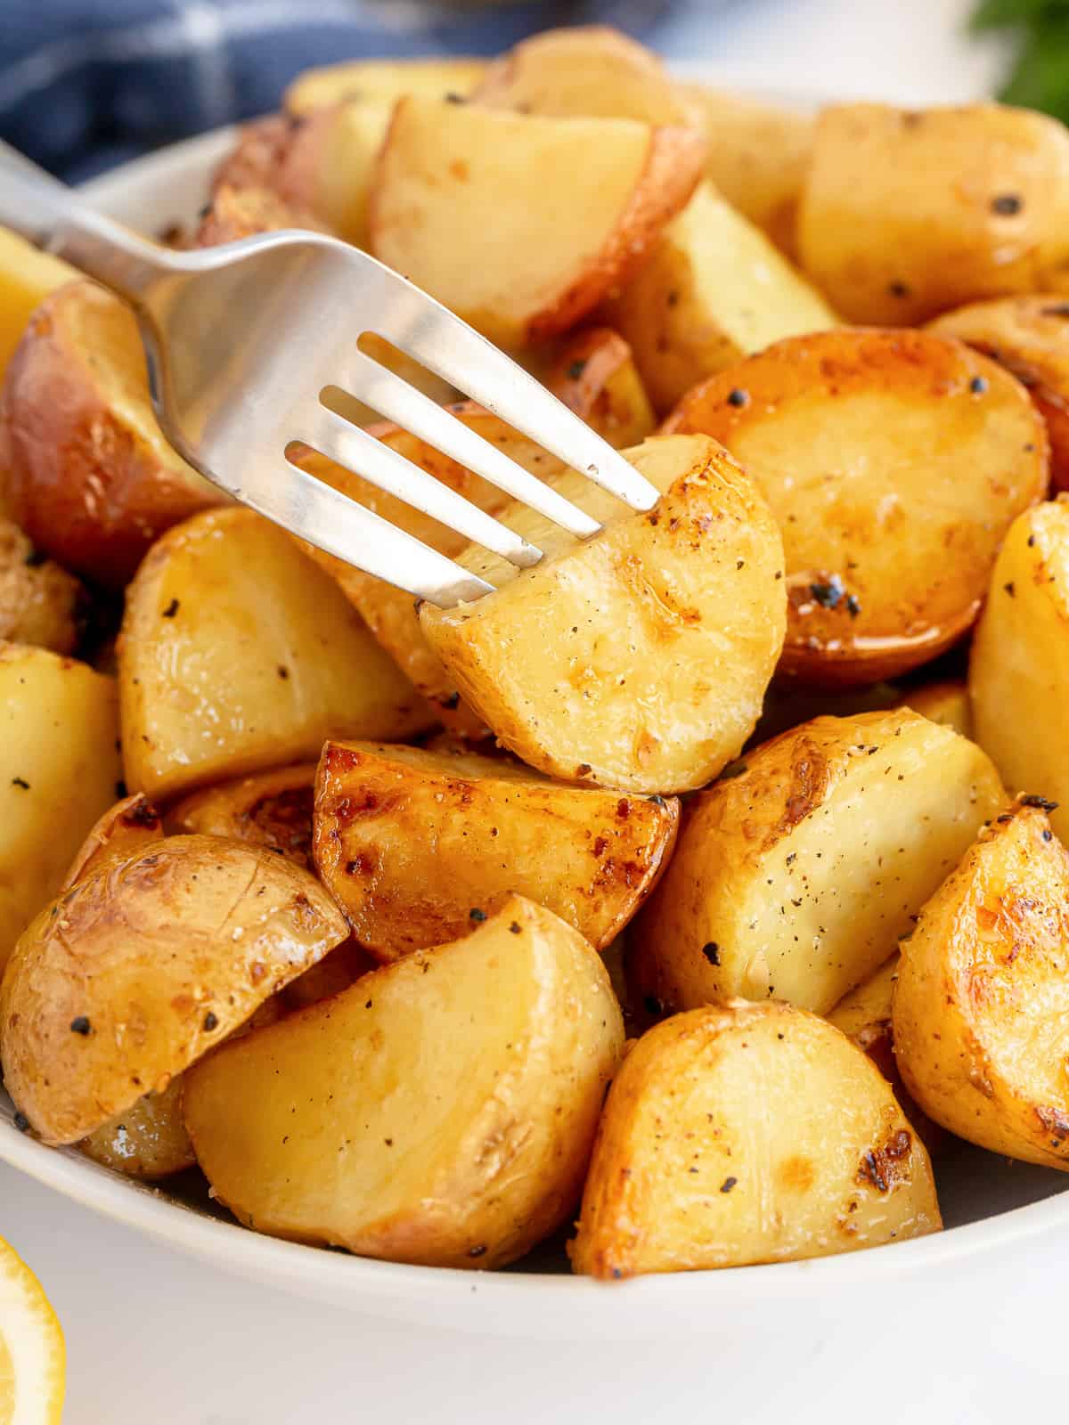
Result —
<path fill-rule="evenodd" d="M 713 0 L 691 0 L 707 9 Z M 670 0 L 0 0 L 0 135 L 78 181 L 277 108 L 312 64 L 496 54 L 556 24 L 656 40 Z"/>

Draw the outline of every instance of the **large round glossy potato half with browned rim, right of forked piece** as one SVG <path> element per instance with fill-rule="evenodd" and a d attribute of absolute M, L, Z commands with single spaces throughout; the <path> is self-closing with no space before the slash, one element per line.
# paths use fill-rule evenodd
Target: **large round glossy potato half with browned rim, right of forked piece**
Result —
<path fill-rule="evenodd" d="M 768 500 L 787 553 L 781 671 L 815 684 L 891 678 L 954 644 L 1048 482 L 1023 386 L 924 332 L 780 342 L 691 390 L 664 429 L 720 440 Z"/>

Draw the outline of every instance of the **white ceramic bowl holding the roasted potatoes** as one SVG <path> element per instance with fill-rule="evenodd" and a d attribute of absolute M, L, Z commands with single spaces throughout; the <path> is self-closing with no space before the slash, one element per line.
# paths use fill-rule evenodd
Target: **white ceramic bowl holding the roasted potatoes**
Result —
<path fill-rule="evenodd" d="M 208 134 L 138 160 L 86 187 L 104 211 L 158 232 L 188 222 L 232 134 Z M 955 1144 L 936 1177 L 948 1231 L 919 1241 L 818 1261 L 646 1277 L 601 1285 L 566 1273 L 547 1248 L 505 1273 L 465 1273 L 366 1261 L 275 1241 L 238 1227 L 202 1190 L 131 1183 L 70 1149 L 20 1133 L 0 1092 L 0 1159 L 115 1221 L 241 1275 L 378 1317 L 507 1335 L 583 1337 L 708 1332 L 725 1317 L 753 1314 L 774 1334 L 804 1311 L 834 1322 L 852 1292 L 924 1291 L 938 1274 L 968 1280 L 978 1254 L 996 1257 L 1043 1234 L 1069 1243 L 1069 1178 Z M 864 1307 L 862 1307 L 864 1310 Z"/>

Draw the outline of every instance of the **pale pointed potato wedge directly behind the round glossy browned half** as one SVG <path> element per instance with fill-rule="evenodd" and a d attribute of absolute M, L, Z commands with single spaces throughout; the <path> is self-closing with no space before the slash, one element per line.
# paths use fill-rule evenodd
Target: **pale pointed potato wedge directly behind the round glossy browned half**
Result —
<path fill-rule="evenodd" d="M 630 342 L 661 413 L 770 342 L 835 325 L 824 298 L 708 182 L 600 315 Z"/>

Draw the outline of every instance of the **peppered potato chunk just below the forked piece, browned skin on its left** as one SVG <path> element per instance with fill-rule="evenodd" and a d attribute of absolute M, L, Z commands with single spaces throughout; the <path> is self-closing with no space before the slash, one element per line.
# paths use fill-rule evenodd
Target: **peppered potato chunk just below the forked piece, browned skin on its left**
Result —
<path fill-rule="evenodd" d="M 1006 795 L 985 754 L 899 708 L 815 718 L 690 804 L 631 935 L 643 993 L 827 1013 L 884 963 Z"/>

